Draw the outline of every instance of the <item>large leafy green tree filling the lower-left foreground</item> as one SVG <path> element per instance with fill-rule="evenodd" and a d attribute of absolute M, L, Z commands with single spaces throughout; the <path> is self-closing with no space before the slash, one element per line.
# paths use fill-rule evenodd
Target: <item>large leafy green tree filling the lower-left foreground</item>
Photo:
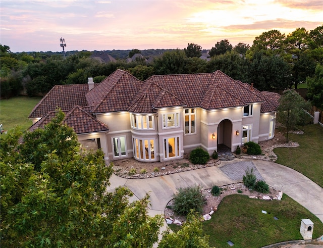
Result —
<path fill-rule="evenodd" d="M 20 145 L 18 131 L 1 136 L 2 245 L 152 247 L 163 222 L 148 216 L 149 196 L 130 204 L 129 189 L 106 192 L 112 165 L 101 150 L 80 151 L 63 119 L 59 111 Z"/>

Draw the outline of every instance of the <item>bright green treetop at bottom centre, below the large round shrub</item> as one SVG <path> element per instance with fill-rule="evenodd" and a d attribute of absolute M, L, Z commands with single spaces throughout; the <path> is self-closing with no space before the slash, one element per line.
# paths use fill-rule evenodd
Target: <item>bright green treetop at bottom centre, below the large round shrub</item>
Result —
<path fill-rule="evenodd" d="M 186 222 L 177 233 L 166 231 L 158 248 L 209 248 L 208 236 L 202 235 L 202 222 L 193 211 L 187 216 Z"/>

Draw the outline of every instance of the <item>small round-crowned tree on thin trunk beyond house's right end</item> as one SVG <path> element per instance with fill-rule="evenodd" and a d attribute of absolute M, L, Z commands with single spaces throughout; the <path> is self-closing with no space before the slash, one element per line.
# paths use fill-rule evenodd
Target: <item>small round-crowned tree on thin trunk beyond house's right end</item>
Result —
<path fill-rule="evenodd" d="M 277 120 L 287 129 L 288 132 L 297 128 L 298 125 L 305 125 L 309 120 L 305 111 L 310 109 L 308 102 L 293 89 L 287 89 L 283 92 L 279 100 Z"/>

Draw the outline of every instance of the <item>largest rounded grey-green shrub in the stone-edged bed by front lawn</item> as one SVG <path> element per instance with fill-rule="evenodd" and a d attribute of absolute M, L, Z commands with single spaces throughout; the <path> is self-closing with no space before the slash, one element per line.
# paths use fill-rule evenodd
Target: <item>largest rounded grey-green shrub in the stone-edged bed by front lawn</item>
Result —
<path fill-rule="evenodd" d="M 187 215 L 191 209 L 194 212 L 202 213 L 204 196 L 199 185 L 180 188 L 174 195 L 173 210 L 179 215 Z"/>

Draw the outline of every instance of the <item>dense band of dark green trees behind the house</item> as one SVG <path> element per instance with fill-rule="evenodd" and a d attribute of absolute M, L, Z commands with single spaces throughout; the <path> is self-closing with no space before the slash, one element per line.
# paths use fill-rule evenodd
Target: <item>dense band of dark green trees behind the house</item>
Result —
<path fill-rule="evenodd" d="M 138 49 L 130 55 L 141 53 Z M 232 46 L 227 39 L 218 41 L 204 59 L 202 47 L 188 43 L 187 48 L 167 51 L 155 56 L 126 63 L 100 63 L 90 58 L 91 52 L 82 51 L 67 56 L 41 53 L 15 55 L 10 47 L 1 45 L 1 94 L 17 95 L 25 89 L 29 96 L 45 94 L 56 84 L 86 83 L 88 77 L 100 82 L 116 69 L 129 71 L 145 80 L 158 74 L 206 73 L 221 70 L 233 79 L 253 83 L 259 90 L 297 88 L 308 84 L 308 98 L 322 106 L 323 25 L 313 30 L 297 28 L 285 35 L 279 30 L 263 32 L 250 46 L 238 43 Z"/>

